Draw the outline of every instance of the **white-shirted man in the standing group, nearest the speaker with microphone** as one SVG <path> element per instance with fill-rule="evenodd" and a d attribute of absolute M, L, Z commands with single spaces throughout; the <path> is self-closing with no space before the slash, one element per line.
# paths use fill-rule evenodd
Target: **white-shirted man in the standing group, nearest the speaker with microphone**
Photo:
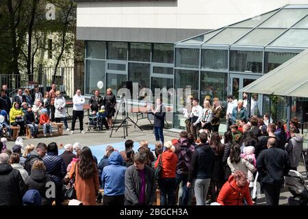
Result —
<path fill-rule="evenodd" d="M 194 135 L 194 140 L 197 138 L 198 131 L 201 129 L 202 120 L 202 107 L 199 105 L 199 99 L 196 98 L 192 101 L 192 112 L 190 114 L 192 118 L 192 125 L 190 125 L 190 131 Z"/>

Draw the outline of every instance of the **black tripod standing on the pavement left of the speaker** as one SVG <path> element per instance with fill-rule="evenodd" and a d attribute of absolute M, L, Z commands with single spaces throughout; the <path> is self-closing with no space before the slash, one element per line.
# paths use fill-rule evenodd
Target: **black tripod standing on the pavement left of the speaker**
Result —
<path fill-rule="evenodd" d="M 124 135 L 123 138 L 125 138 L 126 136 L 128 136 L 127 133 L 127 126 L 128 126 L 128 122 L 130 121 L 131 123 L 133 123 L 134 125 L 136 125 L 141 131 L 142 129 L 128 116 L 128 112 L 127 112 L 127 99 L 124 98 L 125 94 L 123 94 L 123 96 L 121 97 L 121 101 L 120 101 L 120 108 L 118 109 L 118 112 L 121 110 L 122 112 L 122 123 L 119 125 L 119 127 L 116 129 L 116 131 L 118 131 L 118 129 L 120 129 L 121 126 L 123 126 L 123 131 L 124 131 Z M 116 112 L 116 118 L 118 117 L 118 112 Z M 116 122 L 116 118 L 114 119 L 114 122 Z M 114 131 L 114 125 L 112 125 L 112 132 Z M 110 133 L 110 137 L 112 137 L 112 132 Z"/>

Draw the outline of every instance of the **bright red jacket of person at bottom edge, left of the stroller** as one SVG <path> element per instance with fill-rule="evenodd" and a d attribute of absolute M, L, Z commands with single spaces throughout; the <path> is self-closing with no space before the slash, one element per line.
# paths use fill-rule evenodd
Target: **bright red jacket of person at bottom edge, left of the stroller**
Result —
<path fill-rule="evenodd" d="M 242 205 L 243 198 L 245 198 L 247 205 L 253 205 L 248 182 L 240 188 L 236 185 L 233 175 L 231 175 L 229 181 L 222 186 L 217 202 L 220 205 Z"/>

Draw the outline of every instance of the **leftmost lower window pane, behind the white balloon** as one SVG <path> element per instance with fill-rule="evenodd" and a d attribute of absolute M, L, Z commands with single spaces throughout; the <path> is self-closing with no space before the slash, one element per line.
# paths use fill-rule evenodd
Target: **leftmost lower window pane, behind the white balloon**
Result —
<path fill-rule="evenodd" d="M 105 61 L 86 60 L 86 88 L 85 94 L 93 94 L 98 81 L 105 81 Z M 105 94 L 105 89 L 101 88 L 101 94 Z"/>

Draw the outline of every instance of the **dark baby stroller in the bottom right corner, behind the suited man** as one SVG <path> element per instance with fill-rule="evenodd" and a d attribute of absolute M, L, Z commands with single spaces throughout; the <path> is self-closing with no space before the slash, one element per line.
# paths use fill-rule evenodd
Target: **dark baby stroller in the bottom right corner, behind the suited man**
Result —
<path fill-rule="evenodd" d="M 308 190 L 303 175 L 295 170 L 290 170 L 289 174 L 285 176 L 285 188 L 293 195 L 288 200 L 290 205 L 307 205 Z"/>

